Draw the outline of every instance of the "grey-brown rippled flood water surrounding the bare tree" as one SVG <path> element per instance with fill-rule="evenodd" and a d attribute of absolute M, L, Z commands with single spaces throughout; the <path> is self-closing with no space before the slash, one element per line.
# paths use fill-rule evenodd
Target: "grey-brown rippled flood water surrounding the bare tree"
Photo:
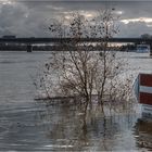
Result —
<path fill-rule="evenodd" d="M 152 150 L 152 122 L 140 111 L 103 117 L 97 110 L 85 121 L 74 106 L 37 103 L 33 77 L 49 55 L 0 52 L 0 151 Z M 124 56 L 139 72 L 152 73 L 148 54 Z"/>

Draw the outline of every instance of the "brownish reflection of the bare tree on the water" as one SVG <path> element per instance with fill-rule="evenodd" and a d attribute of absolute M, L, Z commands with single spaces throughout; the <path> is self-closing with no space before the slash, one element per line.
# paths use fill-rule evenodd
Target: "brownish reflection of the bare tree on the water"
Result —
<path fill-rule="evenodd" d="M 136 115 L 122 114 L 105 117 L 101 111 L 89 111 L 85 116 L 76 106 L 67 104 L 47 106 L 39 113 L 52 150 L 112 151 L 136 150 L 130 128 Z M 126 145 L 126 141 L 129 143 Z"/>

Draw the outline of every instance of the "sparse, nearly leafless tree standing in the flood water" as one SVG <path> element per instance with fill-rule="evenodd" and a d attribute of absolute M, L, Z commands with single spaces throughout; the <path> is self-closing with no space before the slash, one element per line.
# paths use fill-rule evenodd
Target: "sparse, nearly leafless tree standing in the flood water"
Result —
<path fill-rule="evenodd" d="M 129 101 L 130 81 L 121 80 L 119 76 L 126 63 L 109 43 L 118 31 L 116 21 L 113 11 L 104 10 L 93 20 L 74 13 L 68 22 L 50 25 L 49 29 L 59 38 L 59 50 L 52 52 L 39 79 L 39 88 L 47 98 L 72 97 L 81 101 L 87 110 L 98 97 L 102 111 L 107 100 L 111 107 L 115 101 Z M 89 43 L 83 41 L 84 38 L 98 38 L 98 42 Z"/>

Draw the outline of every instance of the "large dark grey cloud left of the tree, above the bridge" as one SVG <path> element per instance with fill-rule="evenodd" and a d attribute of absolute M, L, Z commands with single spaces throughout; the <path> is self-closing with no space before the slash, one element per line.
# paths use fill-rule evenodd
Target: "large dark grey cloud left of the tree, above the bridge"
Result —
<path fill-rule="evenodd" d="M 49 36 L 49 15 L 22 3 L 4 4 L 0 11 L 0 35 Z"/>

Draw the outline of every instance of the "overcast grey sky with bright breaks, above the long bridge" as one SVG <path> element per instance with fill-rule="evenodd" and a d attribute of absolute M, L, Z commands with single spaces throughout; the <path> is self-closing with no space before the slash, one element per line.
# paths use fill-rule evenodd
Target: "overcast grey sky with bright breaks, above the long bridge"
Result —
<path fill-rule="evenodd" d="M 152 35 L 152 1 L 0 0 L 0 37 L 49 37 L 52 18 L 68 17 L 73 11 L 93 17 L 104 8 L 115 8 L 119 15 L 118 37 Z"/>

